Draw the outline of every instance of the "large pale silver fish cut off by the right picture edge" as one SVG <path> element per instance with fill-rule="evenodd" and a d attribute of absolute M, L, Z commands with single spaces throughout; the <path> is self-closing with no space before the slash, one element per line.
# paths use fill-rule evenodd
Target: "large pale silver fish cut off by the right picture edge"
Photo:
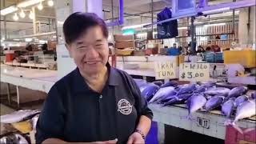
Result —
<path fill-rule="evenodd" d="M 234 122 L 238 122 L 238 120 L 243 119 L 243 118 L 250 118 L 250 117 L 254 116 L 255 114 L 256 114 L 255 100 L 243 102 L 237 108 Z"/>

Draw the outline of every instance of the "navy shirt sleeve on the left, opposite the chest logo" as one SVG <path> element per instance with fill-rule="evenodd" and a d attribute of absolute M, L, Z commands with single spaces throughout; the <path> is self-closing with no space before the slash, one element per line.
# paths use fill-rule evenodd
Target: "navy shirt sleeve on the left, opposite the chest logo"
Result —
<path fill-rule="evenodd" d="M 42 112 L 38 118 L 35 139 L 42 143 L 47 138 L 63 138 L 64 108 L 62 97 L 53 86 L 47 95 Z"/>

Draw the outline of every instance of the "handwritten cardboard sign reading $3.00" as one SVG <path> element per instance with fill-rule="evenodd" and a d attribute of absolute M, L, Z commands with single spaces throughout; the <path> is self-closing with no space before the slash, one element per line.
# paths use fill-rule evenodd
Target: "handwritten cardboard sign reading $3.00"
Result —
<path fill-rule="evenodd" d="M 182 81 L 208 81 L 210 78 L 209 63 L 182 63 L 179 66 L 179 79 Z"/>

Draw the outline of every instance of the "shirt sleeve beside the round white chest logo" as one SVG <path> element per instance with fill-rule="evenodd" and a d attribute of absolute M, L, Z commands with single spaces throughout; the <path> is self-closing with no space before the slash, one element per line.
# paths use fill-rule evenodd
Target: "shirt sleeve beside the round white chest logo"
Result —
<path fill-rule="evenodd" d="M 150 110 L 150 108 L 147 105 L 146 99 L 142 96 L 141 91 L 139 90 L 138 86 L 134 82 L 134 79 L 129 77 L 129 83 L 131 86 L 132 93 L 134 94 L 135 98 L 135 108 L 138 112 L 138 115 L 145 115 L 147 118 L 150 118 L 152 120 L 153 113 Z"/>

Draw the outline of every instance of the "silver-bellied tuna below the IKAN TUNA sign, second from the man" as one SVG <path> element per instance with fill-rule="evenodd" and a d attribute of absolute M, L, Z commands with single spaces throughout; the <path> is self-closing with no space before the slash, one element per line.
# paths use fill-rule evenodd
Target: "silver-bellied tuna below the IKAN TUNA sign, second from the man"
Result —
<path fill-rule="evenodd" d="M 154 94 L 154 97 L 150 99 L 149 103 L 158 101 L 158 99 L 160 101 L 160 98 L 165 99 L 174 94 L 176 94 L 174 87 L 172 87 L 172 86 L 163 87 L 163 88 L 159 89 L 156 94 Z"/>

